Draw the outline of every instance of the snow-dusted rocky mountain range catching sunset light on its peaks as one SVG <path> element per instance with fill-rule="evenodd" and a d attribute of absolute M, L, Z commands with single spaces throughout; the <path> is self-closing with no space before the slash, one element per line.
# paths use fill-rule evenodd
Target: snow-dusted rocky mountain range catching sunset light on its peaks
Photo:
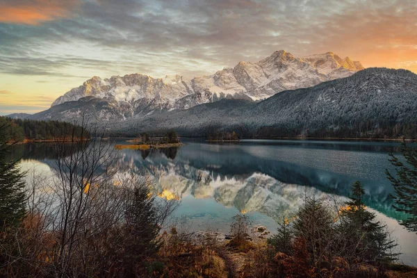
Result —
<path fill-rule="evenodd" d="M 79 88 L 58 97 L 49 111 L 35 118 L 73 120 L 91 113 L 97 120 L 125 120 L 154 113 L 188 109 L 220 99 L 266 99 L 277 92 L 307 88 L 323 81 L 343 78 L 363 70 L 359 62 L 341 59 L 331 52 L 295 58 L 288 52 L 275 51 L 258 63 L 240 62 L 211 76 L 174 75 L 154 79 L 144 74 L 128 74 L 101 79 L 94 76 Z M 88 103 L 92 101 L 92 103 Z M 99 103 L 99 107 L 96 104 Z M 65 106 L 60 106 L 65 104 Z M 100 111 L 99 108 L 103 108 Z M 97 117 L 94 115 L 97 111 Z"/>

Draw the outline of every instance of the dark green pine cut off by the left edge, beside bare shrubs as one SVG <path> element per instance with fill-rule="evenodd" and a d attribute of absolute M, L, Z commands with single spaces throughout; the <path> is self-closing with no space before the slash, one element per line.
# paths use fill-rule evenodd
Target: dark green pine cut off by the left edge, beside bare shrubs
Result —
<path fill-rule="evenodd" d="M 0 227 L 17 224 L 25 213 L 24 173 L 17 166 L 18 161 L 8 161 L 7 145 L 10 129 L 7 122 L 0 122 Z"/>

